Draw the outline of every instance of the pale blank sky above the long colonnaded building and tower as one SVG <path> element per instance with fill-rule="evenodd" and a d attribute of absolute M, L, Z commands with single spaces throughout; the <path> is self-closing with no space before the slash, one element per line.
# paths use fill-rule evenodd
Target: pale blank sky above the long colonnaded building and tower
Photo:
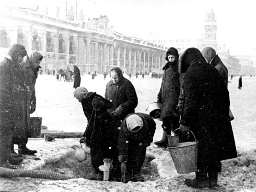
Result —
<path fill-rule="evenodd" d="M 57 1 L 43 2 L 56 6 Z M 37 2 L 43 3 L 8 0 L 13 6 Z M 227 44 L 230 53 L 236 55 L 252 54 L 256 49 L 256 0 L 78 0 L 78 5 L 84 9 L 85 18 L 107 15 L 114 30 L 143 39 L 148 39 L 150 32 L 158 38 L 199 39 L 206 12 L 213 9 L 218 43 Z"/>

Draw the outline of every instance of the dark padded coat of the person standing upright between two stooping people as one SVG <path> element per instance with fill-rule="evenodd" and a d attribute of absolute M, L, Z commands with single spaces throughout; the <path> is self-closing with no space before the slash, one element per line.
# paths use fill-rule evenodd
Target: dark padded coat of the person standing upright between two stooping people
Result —
<path fill-rule="evenodd" d="M 138 105 L 138 98 L 133 84 L 125 77 L 120 77 L 117 84 L 109 81 L 106 86 L 105 99 L 112 102 L 113 106 L 108 112 L 111 114 L 119 106 L 122 107 L 120 119 L 125 119 L 130 113 L 134 113 L 134 109 Z"/>

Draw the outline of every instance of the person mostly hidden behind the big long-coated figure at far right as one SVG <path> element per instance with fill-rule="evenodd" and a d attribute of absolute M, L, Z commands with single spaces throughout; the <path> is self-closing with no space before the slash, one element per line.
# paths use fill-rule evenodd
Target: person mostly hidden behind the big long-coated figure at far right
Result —
<path fill-rule="evenodd" d="M 212 47 L 205 47 L 202 50 L 202 55 L 206 59 L 207 63 L 215 67 L 224 79 L 225 84 L 228 84 L 228 70 L 227 67 L 221 61 L 221 58 L 216 54 L 216 51 Z"/>

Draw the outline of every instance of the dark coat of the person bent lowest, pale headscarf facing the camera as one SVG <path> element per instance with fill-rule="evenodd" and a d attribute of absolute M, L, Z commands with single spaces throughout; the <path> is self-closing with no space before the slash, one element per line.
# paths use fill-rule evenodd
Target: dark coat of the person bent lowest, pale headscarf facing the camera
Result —
<path fill-rule="evenodd" d="M 126 125 L 127 117 L 132 114 L 140 116 L 143 120 L 143 128 L 136 133 L 129 131 Z M 118 138 L 118 159 L 120 163 L 128 161 L 128 169 L 140 171 L 145 160 L 146 148 L 153 141 L 156 123 L 148 114 L 132 114 L 125 117 L 121 124 L 121 130 Z"/>

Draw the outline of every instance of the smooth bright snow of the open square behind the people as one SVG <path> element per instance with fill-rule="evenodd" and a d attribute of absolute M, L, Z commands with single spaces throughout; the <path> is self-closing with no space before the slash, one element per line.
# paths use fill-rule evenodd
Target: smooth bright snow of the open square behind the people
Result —
<path fill-rule="evenodd" d="M 128 76 L 125 76 L 128 78 Z M 81 76 L 81 86 L 86 87 L 88 91 L 97 92 L 105 95 L 105 87 L 110 80 L 108 76 L 104 80 L 103 75 L 91 79 L 90 75 Z M 134 85 L 139 104 L 136 112 L 144 112 L 148 105 L 156 102 L 157 93 L 160 89 L 161 79 L 151 79 L 151 76 L 145 76 L 143 79 L 135 76 L 131 79 Z M 235 135 L 238 149 L 255 148 L 256 140 L 256 78 L 243 77 L 243 87 L 238 88 L 237 77 L 233 78 L 228 84 L 230 91 L 230 108 L 235 116 L 232 121 L 233 132 Z M 39 75 L 36 83 L 37 109 L 32 116 L 43 117 L 43 125 L 48 130 L 65 132 L 84 132 L 87 119 L 82 111 L 81 104 L 73 96 L 73 82 L 57 81 L 52 75 Z M 157 131 L 154 140 L 161 137 L 161 122 L 157 123 Z"/>

